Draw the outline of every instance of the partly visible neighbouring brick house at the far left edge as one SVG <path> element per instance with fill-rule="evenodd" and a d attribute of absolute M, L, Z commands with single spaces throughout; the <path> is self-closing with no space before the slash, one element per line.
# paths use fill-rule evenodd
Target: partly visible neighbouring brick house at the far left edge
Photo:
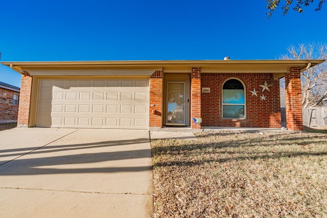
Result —
<path fill-rule="evenodd" d="M 19 92 L 20 88 L 0 82 L 0 124 L 17 122 Z"/>

